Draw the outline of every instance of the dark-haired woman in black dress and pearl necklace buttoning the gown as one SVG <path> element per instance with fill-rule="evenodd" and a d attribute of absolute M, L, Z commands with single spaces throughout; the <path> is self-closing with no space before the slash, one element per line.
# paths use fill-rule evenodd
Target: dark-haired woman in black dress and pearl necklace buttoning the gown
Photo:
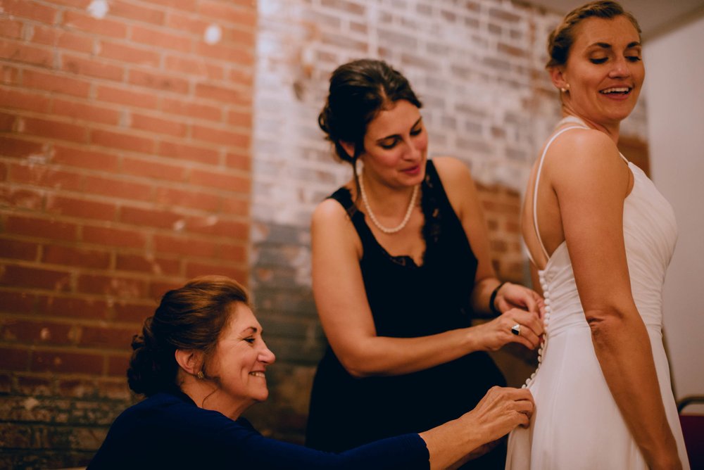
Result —
<path fill-rule="evenodd" d="M 485 351 L 535 348 L 543 333 L 538 294 L 496 279 L 467 167 L 427 160 L 420 107 L 382 61 L 341 65 L 330 80 L 319 123 L 354 177 L 311 227 L 329 348 L 313 383 L 310 447 L 339 452 L 458 417 L 505 385 Z M 472 468 L 503 469 L 504 459 L 499 445 Z"/>

